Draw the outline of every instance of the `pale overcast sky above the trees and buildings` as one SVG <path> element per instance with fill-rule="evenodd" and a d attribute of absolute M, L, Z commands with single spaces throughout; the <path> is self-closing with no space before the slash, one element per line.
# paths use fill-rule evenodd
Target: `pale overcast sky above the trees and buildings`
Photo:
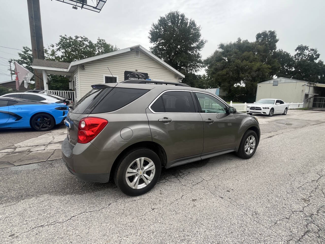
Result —
<path fill-rule="evenodd" d="M 94 0 L 95 1 L 95 0 Z M 91 0 L 88 0 L 91 2 Z M 98 37 L 119 48 L 137 44 L 150 47 L 148 32 L 153 22 L 170 10 L 194 19 L 208 42 L 202 57 L 210 56 L 221 42 L 238 37 L 255 40 L 263 30 L 275 30 L 282 48 L 294 54 L 300 45 L 317 48 L 325 60 L 324 0 L 108 0 L 100 13 L 72 9 L 59 1 L 40 0 L 44 46 L 56 43 L 59 35 Z M 18 58 L 22 46 L 31 47 L 27 1 L 2 1 L 0 14 L 0 81 L 9 80 L 9 58 Z M 5 59 L 4 59 L 5 58 Z"/>

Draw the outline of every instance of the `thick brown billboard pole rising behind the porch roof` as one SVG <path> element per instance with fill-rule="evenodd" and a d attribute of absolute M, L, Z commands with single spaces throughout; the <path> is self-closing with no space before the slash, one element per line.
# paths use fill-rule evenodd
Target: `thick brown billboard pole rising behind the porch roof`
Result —
<path fill-rule="evenodd" d="M 27 0 L 27 7 L 28 7 L 28 17 L 29 17 L 29 29 L 31 32 L 33 59 L 44 60 L 40 1 Z M 42 76 L 42 74 L 39 74 L 37 70 L 34 69 L 35 88 L 44 89 L 43 81 L 40 80 L 39 76 Z"/>

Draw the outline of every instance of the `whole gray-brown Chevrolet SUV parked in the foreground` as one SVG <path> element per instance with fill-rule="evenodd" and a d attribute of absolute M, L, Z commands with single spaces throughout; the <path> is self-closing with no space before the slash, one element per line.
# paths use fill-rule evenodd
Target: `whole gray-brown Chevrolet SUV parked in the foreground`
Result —
<path fill-rule="evenodd" d="M 62 158 L 88 182 L 110 175 L 129 196 L 148 192 L 162 167 L 236 152 L 254 155 L 257 119 L 215 94 L 181 83 L 128 80 L 93 85 L 69 112 Z"/>

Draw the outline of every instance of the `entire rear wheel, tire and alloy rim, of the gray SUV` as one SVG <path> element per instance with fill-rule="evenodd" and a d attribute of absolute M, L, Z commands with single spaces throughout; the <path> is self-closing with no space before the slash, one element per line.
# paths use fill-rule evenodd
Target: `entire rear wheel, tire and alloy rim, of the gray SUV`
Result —
<path fill-rule="evenodd" d="M 150 149 L 139 148 L 128 152 L 118 164 L 114 181 L 128 196 L 139 196 L 149 192 L 157 183 L 161 173 L 158 155 Z"/>

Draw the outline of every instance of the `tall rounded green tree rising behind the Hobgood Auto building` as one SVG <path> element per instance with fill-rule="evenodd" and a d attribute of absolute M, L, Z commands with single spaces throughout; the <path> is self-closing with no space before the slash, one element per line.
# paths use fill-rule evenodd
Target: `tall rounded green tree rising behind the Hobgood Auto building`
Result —
<path fill-rule="evenodd" d="M 201 26 L 179 11 L 171 11 L 153 23 L 149 31 L 150 51 L 185 75 L 184 83 L 192 83 L 195 72 L 203 66 L 200 51 L 206 40 Z"/>

